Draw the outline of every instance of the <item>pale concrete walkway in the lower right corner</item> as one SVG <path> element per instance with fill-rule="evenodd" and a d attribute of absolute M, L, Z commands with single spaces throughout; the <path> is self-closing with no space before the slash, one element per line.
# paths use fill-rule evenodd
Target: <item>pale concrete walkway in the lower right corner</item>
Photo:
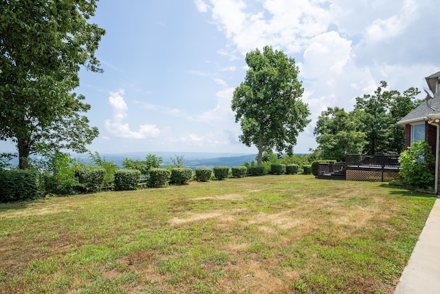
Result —
<path fill-rule="evenodd" d="M 440 199 L 426 220 L 395 294 L 440 293 Z"/>

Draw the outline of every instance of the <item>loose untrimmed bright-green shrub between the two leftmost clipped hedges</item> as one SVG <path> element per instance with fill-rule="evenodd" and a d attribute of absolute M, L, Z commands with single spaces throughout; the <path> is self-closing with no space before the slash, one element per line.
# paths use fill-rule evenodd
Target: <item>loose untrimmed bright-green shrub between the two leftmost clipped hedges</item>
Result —
<path fill-rule="evenodd" d="M 75 170 L 76 160 L 70 154 L 57 152 L 47 162 L 48 171 L 43 174 L 47 193 L 56 195 L 74 195 L 80 186 Z"/>

